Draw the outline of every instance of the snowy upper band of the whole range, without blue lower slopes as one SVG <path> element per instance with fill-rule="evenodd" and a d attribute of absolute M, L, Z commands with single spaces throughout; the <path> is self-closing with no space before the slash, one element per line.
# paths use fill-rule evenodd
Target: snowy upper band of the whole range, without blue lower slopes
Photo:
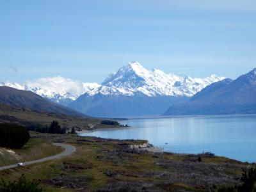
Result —
<path fill-rule="evenodd" d="M 165 74 L 161 70 L 147 70 L 138 62 L 131 62 L 120 68 L 105 79 L 102 84 L 83 83 L 60 76 L 45 77 L 24 84 L 3 83 L 0 86 L 10 86 L 19 90 L 30 90 L 54 102 L 66 105 L 84 93 L 92 96 L 102 95 L 134 95 L 144 94 L 149 97 L 156 95 L 192 97 L 205 86 L 224 77 L 212 75 L 205 78 L 192 78 L 189 76 L 176 76 Z"/>

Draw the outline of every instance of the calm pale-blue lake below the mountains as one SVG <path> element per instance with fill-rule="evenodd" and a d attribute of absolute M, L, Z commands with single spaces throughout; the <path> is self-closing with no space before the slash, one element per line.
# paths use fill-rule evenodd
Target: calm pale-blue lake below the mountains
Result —
<path fill-rule="evenodd" d="M 82 135 L 143 139 L 168 152 L 212 152 L 239 161 L 256 161 L 256 115 L 136 119 L 121 123 L 132 127 Z"/>

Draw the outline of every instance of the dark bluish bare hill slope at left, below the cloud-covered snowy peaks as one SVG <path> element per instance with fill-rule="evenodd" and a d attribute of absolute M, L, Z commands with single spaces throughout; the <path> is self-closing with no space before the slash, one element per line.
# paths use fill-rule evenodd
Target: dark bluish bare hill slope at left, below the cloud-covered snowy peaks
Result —
<path fill-rule="evenodd" d="M 66 108 L 60 104 L 36 95 L 30 91 L 17 90 L 8 86 L 0 86 L 0 103 L 29 108 L 36 111 L 50 111 L 70 116 L 84 116 L 73 109 Z"/>

